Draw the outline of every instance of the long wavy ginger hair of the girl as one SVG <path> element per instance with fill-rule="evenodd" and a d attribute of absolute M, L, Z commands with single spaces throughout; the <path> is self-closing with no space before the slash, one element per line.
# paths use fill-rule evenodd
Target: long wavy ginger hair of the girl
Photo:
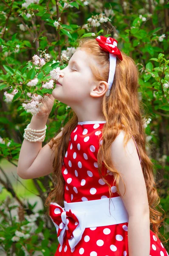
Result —
<path fill-rule="evenodd" d="M 109 52 L 104 52 L 95 38 L 79 38 L 77 46 L 93 58 L 99 67 L 90 64 L 94 79 L 96 81 L 108 81 L 109 76 Z M 110 198 L 113 195 L 111 191 L 110 183 L 106 180 L 106 175 L 101 174 L 102 161 L 105 168 L 113 173 L 115 184 L 118 194 L 121 196 L 118 190 L 119 179 L 121 174 L 113 166 L 111 160 L 111 144 L 118 135 L 120 129 L 125 131 L 124 147 L 131 138 L 131 134 L 135 138 L 138 145 L 138 150 L 141 156 L 141 167 L 144 174 L 146 183 L 147 196 L 149 201 L 149 217 L 150 217 L 150 229 L 157 235 L 161 236 L 165 241 L 164 236 L 159 233 L 159 227 L 166 217 L 165 211 L 159 206 L 160 197 L 158 195 L 155 182 L 155 174 L 153 172 L 154 164 L 146 154 L 146 134 L 144 131 L 144 120 L 142 115 L 144 114 L 143 104 L 138 99 L 138 79 L 139 72 L 134 60 L 121 51 L 123 61 L 117 58 L 115 76 L 113 85 L 110 90 L 110 96 L 102 96 L 101 109 L 104 119 L 107 121 L 102 129 L 102 144 L 98 151 L 98 172 L 100 177 L 105 181 L 109 187 Z M 49 145 L 50 148 L 54 148 L 54 162 L 53 162 L 53 181 L 54 189 L 48 194 L 45 201 L 45 207 L 48 207 L 47 213 L 49 214 L 49 205 L 51 202 L 57 202 L 64 207 L 64 185 L 65 181 L 62 176 L 62 163 L 65 157 L 65 153 L 68 148 L 71 132 L 76 128 L 78 124 L 78 117 L 76 113 L 71 110 L 69 113 L 69 120 L 62 129 L 62 136 L 56 139 L 52 138 Z M 123 178 L 121 177 L 123 180 Z M 124 183 L 124 180 L 123 180 Z M 126 186 L 125 192 L 126 193 Z M 124 196 L 123 195 L 123 196 Z M 157 207 L 164 212 L 158 211 Z"/>

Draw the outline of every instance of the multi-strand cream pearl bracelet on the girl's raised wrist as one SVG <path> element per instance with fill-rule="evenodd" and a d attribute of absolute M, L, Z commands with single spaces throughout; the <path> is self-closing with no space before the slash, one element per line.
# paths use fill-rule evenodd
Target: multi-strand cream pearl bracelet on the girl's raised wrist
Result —
<path fill-rule="evenodd" d="M 47 129 L 47 126 L 45 125 L 45 128 L 44 129 L 40 129 L 40 130 L 34 130 L 34 129 L 31 129 L 29 128 L 29 125 L 28 124 L 26 126 L 26 128 L 24 129 L 24 134 L 23 134 L 23 137 L 28 140 L 29 142 L 43 142 L 45 140 L 45 134 L 46 134 L 46 129 Z M 42 135 L 41 137 L 37 137 L 37 135 Z"/>

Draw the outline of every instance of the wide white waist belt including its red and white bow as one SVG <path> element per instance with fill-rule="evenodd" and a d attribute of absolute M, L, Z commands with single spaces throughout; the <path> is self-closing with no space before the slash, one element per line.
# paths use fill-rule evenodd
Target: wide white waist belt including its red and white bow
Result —
<path fill-rule="evenodd" d="M 56 227 L 59 243 L 63 244 L 66 235 L 72 250 L 82 239 L 85 228 L 129 221 L 129 215 L 120 196 L 75 203 L 64 201 L 64 206 L 65 208 L 62 208 L 59 204 L 51 203 L 50 217 Z"/>

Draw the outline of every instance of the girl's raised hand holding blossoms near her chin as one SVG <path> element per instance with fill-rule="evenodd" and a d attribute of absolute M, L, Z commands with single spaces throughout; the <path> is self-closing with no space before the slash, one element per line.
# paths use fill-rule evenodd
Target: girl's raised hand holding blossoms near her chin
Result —
<path fill-rule="evenodd" d="M 46 93 L 45 95 L 49 98 L 47 100 L 42 99 L 43 106 L 40 107 L 41 111 L 37 113 L 37 116 L 49 116 L 53 108 L 55 98 L 49 93 Z"/>

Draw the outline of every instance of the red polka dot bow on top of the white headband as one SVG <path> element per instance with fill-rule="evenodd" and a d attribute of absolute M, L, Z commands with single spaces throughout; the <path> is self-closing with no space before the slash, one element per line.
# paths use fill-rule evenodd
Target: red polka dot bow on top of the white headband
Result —
<path fill-rule="evenodd" d="M 99 43 L 99 46 L 105 51 L 105 52 L 110 52 L 112 54 L 117 55 L 117 57 L 122 61 L 122 55 L 120 50 L 117 48 L 117 43 L 118 41 L 116 41 L 114 38 L 106 38 L 105 36 L 98 36 L 97 38 L 95 38 L 96 41 Z"/>

